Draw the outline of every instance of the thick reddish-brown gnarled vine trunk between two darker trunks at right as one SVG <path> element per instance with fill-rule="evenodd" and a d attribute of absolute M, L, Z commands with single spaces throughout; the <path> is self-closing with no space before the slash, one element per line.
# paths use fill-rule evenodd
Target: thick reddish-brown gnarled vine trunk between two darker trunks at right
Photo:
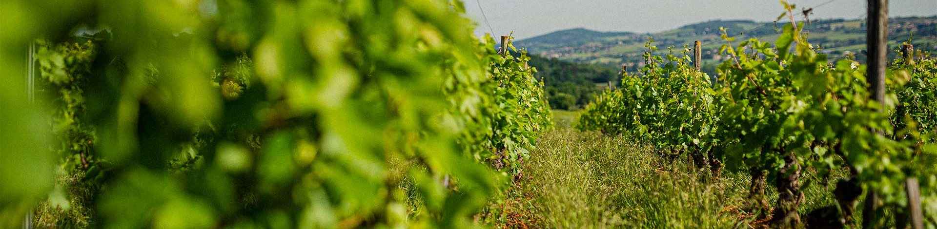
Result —
<path fill-rule="evenodd" d="M 784 166 L 779 171 L 775 186 L 778 188 L 778 205 L 774 208 L 771 222 L 779 228 L 799 228 L 800 214 L 797 207 L 804 200 L 800 192 L 800 165 L 794 152 L 784 155 Z"/>

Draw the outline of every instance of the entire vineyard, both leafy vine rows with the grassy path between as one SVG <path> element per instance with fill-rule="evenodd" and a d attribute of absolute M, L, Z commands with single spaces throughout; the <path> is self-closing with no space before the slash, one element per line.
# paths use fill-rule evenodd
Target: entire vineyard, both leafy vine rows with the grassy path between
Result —
<path fill-rule="evenodd" d="M 458 0 L 2 2 L 0 228 L 937 227 L 937 58 L 781 5 L 578 92 Z"/>

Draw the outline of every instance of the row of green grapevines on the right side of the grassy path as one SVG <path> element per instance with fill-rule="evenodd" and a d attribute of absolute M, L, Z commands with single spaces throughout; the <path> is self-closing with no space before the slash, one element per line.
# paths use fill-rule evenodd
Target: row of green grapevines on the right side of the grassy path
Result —
<path fill-rule="evenodd" d="M 807 167 L 821 177 L 840 168 L 851 171 L 835 192 L 842 222 L 855 222 L 860 188 L 879 196 L 883 207 L 903 211 L 906 178 L 921 180 L 922 201 L 929 205 L 937 179 L 926 166 L 937 153 L 930 134 L 932 58 L 893 63 L 886 81 L 890 93 L 879 104 L 870 100 L 864 65 L 851 59 L 829 63 L 801 28 L 786 25 L 774 44 L 751 38 L 737 46 L 723 30 L 727 44 L 720 52 L 730 58 L 719 65 L 711 86 L 687 64 L 686 49 L 681 58 L 659 57 L 648 43 L 641 75 L 623 76 L 620 90 L 599 95 L 579 128 L 645 140 L 672 151 L 669 158 L 686 155 L 698 168 L 714 168 L 715 176 L 723 163 L 729 171 L 748 172 L 750 210 L 777 226 L 801 225 L 800 177 Z M 779 193 L 770 214 L 766 180 L 774 180 Z M 926 214 L 928 223 L 937 223 L 937 212 Z M 872 225 L 885 222 L 878 221 Z"/>

